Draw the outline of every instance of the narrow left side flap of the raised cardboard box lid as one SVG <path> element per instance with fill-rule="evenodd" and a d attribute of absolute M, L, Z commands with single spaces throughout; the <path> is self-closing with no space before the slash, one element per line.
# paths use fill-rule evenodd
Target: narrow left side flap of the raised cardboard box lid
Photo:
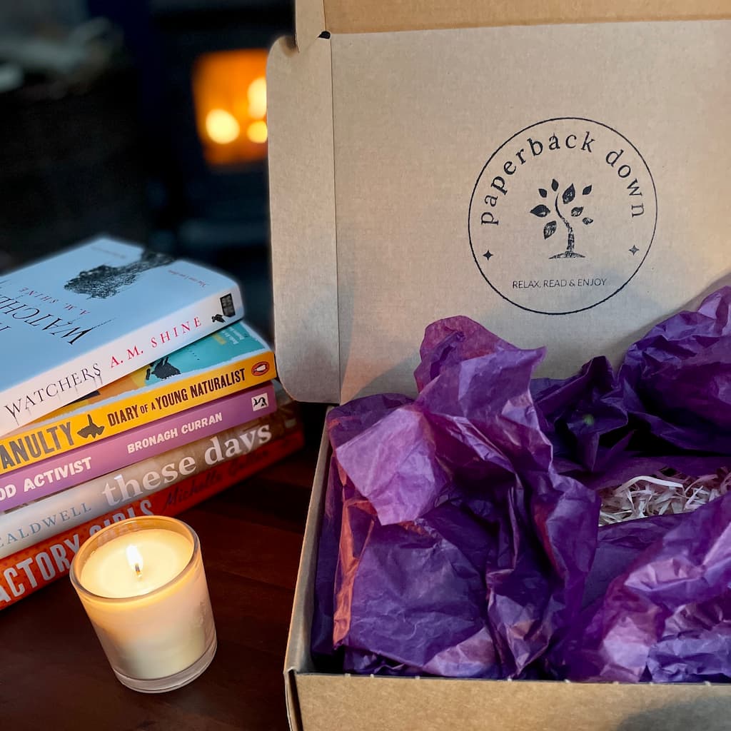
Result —
<path fill-rule="evenodd" d="M 298 401 L 340 394 L 330 42 L 280 39 L 267 69 L 275 352 Z"/>

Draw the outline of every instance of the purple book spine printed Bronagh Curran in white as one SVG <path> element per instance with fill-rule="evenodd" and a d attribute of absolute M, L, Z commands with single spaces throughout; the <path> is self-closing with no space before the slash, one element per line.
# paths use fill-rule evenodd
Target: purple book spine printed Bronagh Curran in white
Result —
<path fill-rule="evenodd" d="M 275 410 L 276 395 L 269 382 L 13 470 L 0 477 L 0 515 Z"/>

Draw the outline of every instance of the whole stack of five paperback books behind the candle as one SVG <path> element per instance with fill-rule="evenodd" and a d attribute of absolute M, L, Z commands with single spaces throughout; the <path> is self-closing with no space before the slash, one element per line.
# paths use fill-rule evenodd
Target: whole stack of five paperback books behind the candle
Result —
<path fill-rule="evenodd" d="M 177 515 L 304 444 L 220 273 L 108 238 L 0 279 L 0 609 L 104 526 Z"/>

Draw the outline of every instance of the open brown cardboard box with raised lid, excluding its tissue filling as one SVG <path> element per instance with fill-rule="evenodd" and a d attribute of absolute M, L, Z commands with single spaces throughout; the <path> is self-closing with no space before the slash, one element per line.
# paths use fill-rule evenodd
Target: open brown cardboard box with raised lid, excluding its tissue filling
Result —
<path fill-rule="evenodd" d="M 425 326 L 454 314 L 547 345 L 539 375 L 567 376 L 719 287 L 728 18 L 729 0 L 298 0 L 297 42 L 268 67 L 289 393 L 412 393 Z M 293 729 L 729 727 L 731 686 L 318 673 L 328 455 L 323 439 L 287 648 Z"/>

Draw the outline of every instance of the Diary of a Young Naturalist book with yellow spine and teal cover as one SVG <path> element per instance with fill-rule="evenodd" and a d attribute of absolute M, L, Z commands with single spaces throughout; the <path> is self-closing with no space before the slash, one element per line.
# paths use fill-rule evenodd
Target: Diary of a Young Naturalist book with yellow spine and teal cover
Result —
<path fill-rule="evenodd" d="M 239 320 L 46 419 L 0 436 L 0 475 L 248 390 L 275 376 L 270 346 Z"/>

